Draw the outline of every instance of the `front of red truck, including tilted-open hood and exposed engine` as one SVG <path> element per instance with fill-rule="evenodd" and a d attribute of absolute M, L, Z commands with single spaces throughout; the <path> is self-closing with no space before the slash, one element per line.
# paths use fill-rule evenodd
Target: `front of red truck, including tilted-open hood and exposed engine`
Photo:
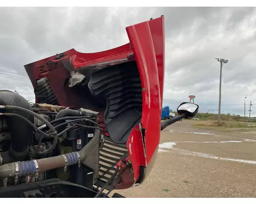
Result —
<path fill-rule="evenodd" d="M 160 140 L 163 19 L 127 27 L 120 47 L 25 65 L 33 105 L 0 90 L 0 197 L 109 197 L 143 183 Z"/>

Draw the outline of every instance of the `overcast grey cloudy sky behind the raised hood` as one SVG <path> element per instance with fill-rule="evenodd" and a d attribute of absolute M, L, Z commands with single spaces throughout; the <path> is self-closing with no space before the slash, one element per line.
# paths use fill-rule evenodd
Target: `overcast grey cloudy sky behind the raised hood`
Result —
<path fill-rule="evenodd" d="M 164 105 L 176 109 L 193 94 L 200 112 L 217 113 L 215 58 L 224 58 L 229 62 L 223 66 L 222 112 L 243 115 L 247 96 L 256 113 L 255 8 L 0 8 L 1 89 L 33 100 L 23 65 L 71 48 L 90 53 L 120 46 L 129 42 L 125 27 L 160 15 L 165 15 Z"/>

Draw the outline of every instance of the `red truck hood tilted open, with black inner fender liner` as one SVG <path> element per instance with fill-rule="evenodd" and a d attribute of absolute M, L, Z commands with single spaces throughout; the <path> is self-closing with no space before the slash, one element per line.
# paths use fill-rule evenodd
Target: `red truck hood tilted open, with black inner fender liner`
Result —
<path fill-rule="evenodd" d="M 130 42 L 120 47 L 99 53 L 70 49 L 25 69 L 36 103 L 100 112 L 111 139 L 127 145 L 134 184 L 143 182 L 158 152 L 164 17 L 131 25 L 126 32 Z M 123 188 L 131 186 L 122 182 Z"/>

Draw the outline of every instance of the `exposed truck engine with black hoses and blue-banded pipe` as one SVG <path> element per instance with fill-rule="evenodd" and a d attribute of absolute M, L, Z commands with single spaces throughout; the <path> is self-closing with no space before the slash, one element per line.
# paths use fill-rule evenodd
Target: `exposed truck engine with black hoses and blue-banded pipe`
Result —
<path fill-rule="evenodd" d="M 98 112 L 49 104 L 30 106 L 24 97 L 7 90 L 1 90 L 0 97 L 0 195 L 4 191 L 6 196 L 11 186 L 48 180 L 98 192 L 99 186 L 117 175 L 115 165 L 128 151 L 125 145 L 105 139 Z M 109 189 L 115 187 L 114 182 L 108 184 Z M 38 196 L 37 189 L 22 193 Z M 61 193 L 67 196 L 68 192 L 55 189 L 44 197 Z"/>

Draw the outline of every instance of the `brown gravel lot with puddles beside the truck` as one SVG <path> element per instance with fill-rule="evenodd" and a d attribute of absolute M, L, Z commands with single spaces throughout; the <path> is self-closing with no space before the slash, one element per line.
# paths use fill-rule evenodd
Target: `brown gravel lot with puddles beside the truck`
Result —
<path fill-rule="evenodd" d="M 125 197 L 256 197 L 256 132 L 220 132 L 179 121 L 162 131 L 158 159 Z"/>

